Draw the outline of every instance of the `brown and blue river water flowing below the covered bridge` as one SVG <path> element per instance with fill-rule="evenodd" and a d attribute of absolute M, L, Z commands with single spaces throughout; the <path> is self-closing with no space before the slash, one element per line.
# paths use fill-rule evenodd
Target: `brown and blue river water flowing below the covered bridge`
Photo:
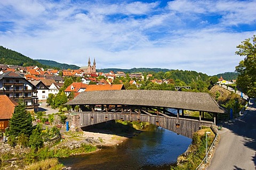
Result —
<path fill-rule="evenodd" d="M 60 162 L 72 169 L 170 169 L 190 143 L 191 139 L 158 127 L 118 146 L 62 158 Z"/>

